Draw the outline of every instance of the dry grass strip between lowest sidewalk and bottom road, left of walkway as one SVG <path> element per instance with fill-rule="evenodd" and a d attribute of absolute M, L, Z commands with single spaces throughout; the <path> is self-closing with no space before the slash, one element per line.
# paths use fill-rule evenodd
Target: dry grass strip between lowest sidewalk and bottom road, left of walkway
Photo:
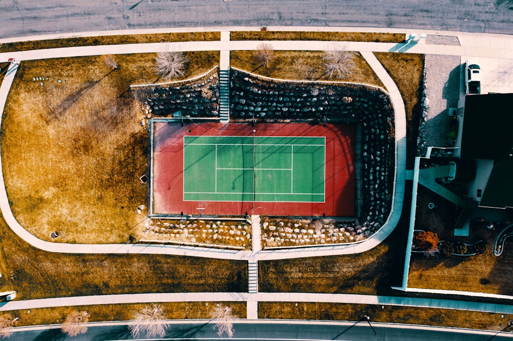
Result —
<path fill-rule="evenodd" d="M 208 305 L 207 305 L 208 303 Z M 235 315 L 246 317 L 246 302 L 164 302 L 159 303 L 164 308 L 168 319 L 209 319 L 209 313 L 216 304 L 230 306 Z M 130 321 L 133 311 L 141 310 L 144 303 L 137 304 L 105 304 L 76 307 L 37 308 L 28 310 L 12 310 L 12 315 L 20 316 L 17 324 L 20 326 L 53 325 L 60 324 L 66 316 L 79 310 L 87 310 L 90 314 L 89 322 L 103 321 Z"/>

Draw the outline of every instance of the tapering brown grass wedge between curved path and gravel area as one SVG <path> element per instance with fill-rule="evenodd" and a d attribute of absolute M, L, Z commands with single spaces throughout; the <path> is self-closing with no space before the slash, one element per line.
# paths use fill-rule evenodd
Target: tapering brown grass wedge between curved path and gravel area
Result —
<path fill-rule="evenodd" d="M 406 110 L 407 167 L 413 166 L 419 130 L 422 71 L 424 55 L 412 53 L 374 52 L 393 81 L 396 82 Z"/>

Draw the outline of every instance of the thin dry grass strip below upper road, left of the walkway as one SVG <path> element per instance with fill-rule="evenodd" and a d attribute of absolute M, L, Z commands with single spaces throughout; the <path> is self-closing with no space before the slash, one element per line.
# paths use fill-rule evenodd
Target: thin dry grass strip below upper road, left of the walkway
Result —
<path fill-rule="evenodd" d="M 54 49 L 74 46 L 144 44 L 149 42 L 214 41 L 220 39 L 220 32 L 106 35 L 95 37 L 73 37 L 62 39 L 4 42 L 3 45 L 0 45 L 0 52 Z"/>

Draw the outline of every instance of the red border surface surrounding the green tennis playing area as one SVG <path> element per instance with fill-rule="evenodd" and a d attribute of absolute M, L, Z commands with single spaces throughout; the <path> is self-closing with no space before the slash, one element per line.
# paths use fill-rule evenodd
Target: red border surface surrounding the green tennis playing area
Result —
<path fill-rule="evenodd" d="M 315 136 L 326 138 L 324 203 L 183 201 L 183 137 L 192 136 Z M 153 123 L 152 214 L 354 216 L 355 125 L 309 123 Z"/>

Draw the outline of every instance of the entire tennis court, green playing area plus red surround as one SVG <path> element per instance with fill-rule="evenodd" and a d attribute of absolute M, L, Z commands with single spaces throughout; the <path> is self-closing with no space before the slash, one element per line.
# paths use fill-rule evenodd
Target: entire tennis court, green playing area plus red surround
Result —
<path fill-rule="evenodd" d="M 151 134 L 152 214 L 354 216 L 355 124 L 162 120 Z"/>

